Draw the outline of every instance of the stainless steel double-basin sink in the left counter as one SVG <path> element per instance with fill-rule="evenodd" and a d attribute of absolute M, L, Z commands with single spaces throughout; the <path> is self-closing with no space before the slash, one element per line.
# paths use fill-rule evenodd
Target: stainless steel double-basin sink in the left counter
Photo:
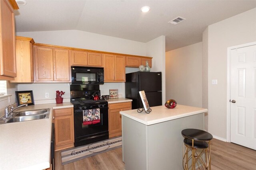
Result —
<path fill-rule="evenodd" d="M 49 118 L 50 108 L 48 109 L 38 109 L 38 110 L 26 110 L 26 111 L 15 111 L 13 115 L 4 121 L 0 121 L 0 124 L 5 123 L 15 123 L 22 121 L 31 121 L 38 119 Z"/>

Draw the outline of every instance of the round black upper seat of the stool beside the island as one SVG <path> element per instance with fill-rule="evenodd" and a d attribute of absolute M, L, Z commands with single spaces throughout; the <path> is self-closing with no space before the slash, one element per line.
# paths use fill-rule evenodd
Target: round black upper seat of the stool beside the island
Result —
<path fill-rule="evenodd" d="M 213 138 L 210 133 L 200 129 L 184 129 L 181 131 L 181 134 L 185 138 L 197 141 L 210 141 Z"/>

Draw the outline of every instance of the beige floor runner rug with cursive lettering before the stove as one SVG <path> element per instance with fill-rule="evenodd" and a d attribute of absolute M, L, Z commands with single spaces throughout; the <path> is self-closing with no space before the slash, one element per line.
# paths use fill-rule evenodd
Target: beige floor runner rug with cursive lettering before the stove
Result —
<path fill-rule="evenodd" d="M 122 137 L 65 149 L 61 152 L 62 165 L 120 147 L 122 147 Z"/>

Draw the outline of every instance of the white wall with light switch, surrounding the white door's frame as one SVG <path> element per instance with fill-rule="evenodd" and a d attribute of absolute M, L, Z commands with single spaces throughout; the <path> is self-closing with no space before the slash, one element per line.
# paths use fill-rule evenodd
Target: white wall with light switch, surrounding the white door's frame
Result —
<path fill-rule="evenodd" d="M 206 38 L 203 36 L 203 39 Z M 226 139 L 227 48 L 256 41 L 256 8 L 208 26 L 208 131 Z M 212 85 L 213 79 L 218 80 Z"/>

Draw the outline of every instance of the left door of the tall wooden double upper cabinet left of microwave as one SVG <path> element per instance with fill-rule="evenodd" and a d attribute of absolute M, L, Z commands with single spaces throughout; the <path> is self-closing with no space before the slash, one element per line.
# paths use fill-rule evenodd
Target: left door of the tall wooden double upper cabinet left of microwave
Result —
<path fill-rule="evenodd" d="M 34 47 L 36 81 L 53 81 L 53 50 L 46 47 Z"/>

